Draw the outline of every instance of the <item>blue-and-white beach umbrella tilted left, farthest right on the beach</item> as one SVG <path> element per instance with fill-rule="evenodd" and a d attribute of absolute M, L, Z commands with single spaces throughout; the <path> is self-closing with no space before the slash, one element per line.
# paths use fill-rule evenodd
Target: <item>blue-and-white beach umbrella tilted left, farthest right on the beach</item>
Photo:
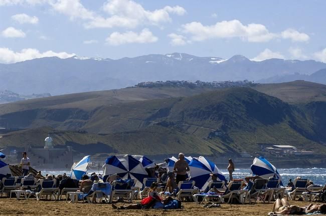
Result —
<path fill-rule="evenodd" d="M 274 177 L 275 179 L 281 179 L 276 167 L 262 156 L 255 157 L 250 168 L 254 175 L 259 175 L 262 178 Z"/>

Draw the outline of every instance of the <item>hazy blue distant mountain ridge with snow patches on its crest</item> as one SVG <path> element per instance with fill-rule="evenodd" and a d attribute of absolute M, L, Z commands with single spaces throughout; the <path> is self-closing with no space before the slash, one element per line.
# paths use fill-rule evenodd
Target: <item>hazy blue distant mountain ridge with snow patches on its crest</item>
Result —
<path fill-rule="evenodd" d="M 314 60 L 253 61 L 243 55 L 229 59 L 186 53 L 149 54 L 121 59 L 73 56 L 44 57 L 0 64 L 0 86 L 24 94 L 52 95 L 118 89 L 157 80 L 261 80 L 293 73 L 311 74 L 326 68 Z"/>

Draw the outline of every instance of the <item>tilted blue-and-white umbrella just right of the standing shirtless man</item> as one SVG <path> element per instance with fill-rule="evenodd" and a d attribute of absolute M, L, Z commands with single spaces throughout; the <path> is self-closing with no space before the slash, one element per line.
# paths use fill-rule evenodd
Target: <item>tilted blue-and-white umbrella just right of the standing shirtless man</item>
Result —
<path fill-rule="evenodd" d="M 217 174 L 217 179 L 226 181 L 225 176 L 217 168 L 215 163 L 203 156 L 194 157 L 190 163 L 190 180 L 194 180 L 195 185 L 200 189 L 205 189 L 212 180 L 211 173 Z"/>

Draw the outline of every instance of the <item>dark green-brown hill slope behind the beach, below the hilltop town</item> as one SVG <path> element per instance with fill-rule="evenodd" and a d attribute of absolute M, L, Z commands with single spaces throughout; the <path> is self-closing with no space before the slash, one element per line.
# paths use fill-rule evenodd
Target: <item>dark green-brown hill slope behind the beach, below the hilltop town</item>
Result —
<path fill-rule="evenodd" d="M 192 154 L 240 155 L 244 151 L 260 152 L 262 143 L 290 144 L 326 153 L 322 144 L 326 141 L 323 106 L 322 102 L 290 105 L 246 87 L 188 97 L 124 101 L 89 110 L 66 108 L 65 104 L 61 108 L 33 106 L 0 116 L 0 122 L 10 120 L 31 128 L 5 134 L 0 140 L 7 146 L 38 145 L 40 142 L 33 137 L 35 128 L 51 125 L 56 128 L 52 136 L 57 143 L 73 144 L 79 151 L 92 146 L 94 153 L 161 155 L 180 149 Z"/>

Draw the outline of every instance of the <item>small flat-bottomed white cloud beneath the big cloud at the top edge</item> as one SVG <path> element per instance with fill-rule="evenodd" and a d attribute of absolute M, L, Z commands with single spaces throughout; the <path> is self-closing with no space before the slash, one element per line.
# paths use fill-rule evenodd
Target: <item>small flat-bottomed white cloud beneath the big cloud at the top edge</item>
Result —
<path fill-rule="evenodd" d="M 156 42 L 157 39 L 151 31 L 144 28 L 140 33 L 133 31 L 120 33 L 115 31 L 106 38 L 106 42 L 110 45 L 121 45 L 125 43 L 151 43 Z"/>

